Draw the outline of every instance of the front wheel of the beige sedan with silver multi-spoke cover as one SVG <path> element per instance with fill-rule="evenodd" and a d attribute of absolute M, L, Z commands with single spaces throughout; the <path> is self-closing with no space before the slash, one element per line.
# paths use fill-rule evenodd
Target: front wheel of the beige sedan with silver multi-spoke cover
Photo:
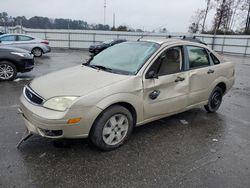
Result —
<path fill-rule="evenodd" d="M 131 135 L 133 117 L 129 110 L 114 105 L 107 108 L 94 123 L 91 142 L 103 151 L 110 151 L 120 147 Z"/>

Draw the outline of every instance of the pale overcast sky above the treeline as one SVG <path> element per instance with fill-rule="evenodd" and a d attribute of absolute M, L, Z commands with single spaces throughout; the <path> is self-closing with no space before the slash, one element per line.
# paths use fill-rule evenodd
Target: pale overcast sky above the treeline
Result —
<path fill-rule="evenodd" d="M 44 16 L 104 22 L 104 0 L 1 0 L 0 12 L 11 16 Z M 161 26 L 170 32 L 186 32 L 190 18 L 205 0 L 107 0 L 106 23 L 153 30 Z M 208 17 L 208 23 L 212 15 Z"/>

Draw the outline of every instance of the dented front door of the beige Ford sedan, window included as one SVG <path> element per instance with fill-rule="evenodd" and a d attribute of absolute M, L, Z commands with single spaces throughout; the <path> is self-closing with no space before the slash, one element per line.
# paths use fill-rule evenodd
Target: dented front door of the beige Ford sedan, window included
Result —
<path fill-rule="evenodd" d="M 147 71 L 154 78 L 144 78 L 144 119 L 178 112 L 187 106 L 188 72 L 183 71 L 183 47 L 163 51 Z"/>

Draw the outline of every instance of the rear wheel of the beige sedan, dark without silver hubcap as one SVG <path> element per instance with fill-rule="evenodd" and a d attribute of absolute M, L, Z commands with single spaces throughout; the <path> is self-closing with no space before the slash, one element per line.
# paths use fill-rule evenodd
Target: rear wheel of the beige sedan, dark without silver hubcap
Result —
<path fill-rule="evenodd" d="M 223 90 L 220 87 L 216 86 L 208 99 L 208 104 L 204 106 L 206 111 L 208 113 L 216 112 L 221 105 L 222 98 Z"/>

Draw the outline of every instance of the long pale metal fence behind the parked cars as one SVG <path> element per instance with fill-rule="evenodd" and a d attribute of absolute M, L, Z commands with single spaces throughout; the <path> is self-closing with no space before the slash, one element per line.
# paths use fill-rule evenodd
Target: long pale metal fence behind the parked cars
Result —
<path fill-rule="evenodd" d="M 127 39 L 135 41 L 140 37 L 147 39 L 166 39 L 171 36 L 185 35 L 183 33 L 136 33 L 93 30 L 42 30 L 27 29 L 21 26 L 8 28 L 10 33 L 26 33 L 50 41 L 51 47 L 58 48 L 88 48 L 92 43 L 109 39 Z M 195 34 L 209 47 L 221 53 L 250 55 L 250 36 L 247 35 L 204 35 Z"/>

